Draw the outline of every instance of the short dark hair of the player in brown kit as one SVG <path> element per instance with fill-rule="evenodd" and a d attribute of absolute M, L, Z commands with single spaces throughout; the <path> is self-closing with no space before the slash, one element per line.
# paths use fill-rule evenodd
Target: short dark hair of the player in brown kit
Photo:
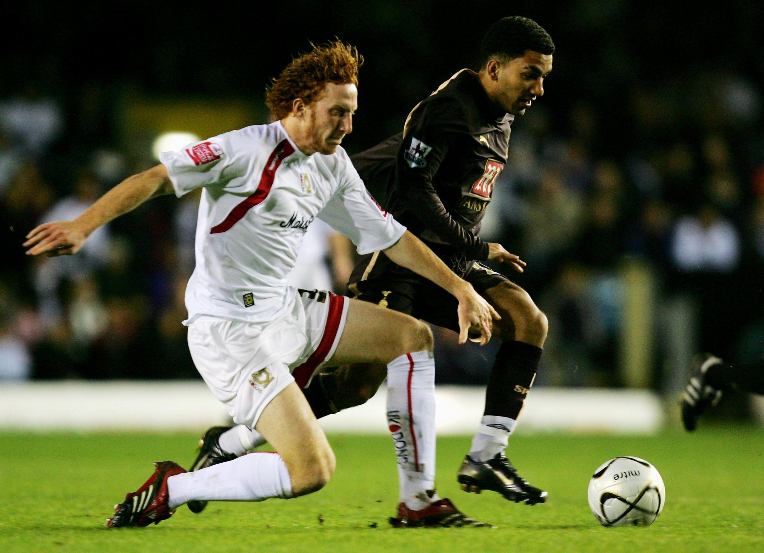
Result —
<path fill-rule="evenodd" d="M 529 18 L 515 15 L 501 18 L 488 27 L 481 42 L 481 67 L 496 57 L 513 60 L 523 57 L 526 50 L 551 56 L 555 43 L 543 27 Z"/>

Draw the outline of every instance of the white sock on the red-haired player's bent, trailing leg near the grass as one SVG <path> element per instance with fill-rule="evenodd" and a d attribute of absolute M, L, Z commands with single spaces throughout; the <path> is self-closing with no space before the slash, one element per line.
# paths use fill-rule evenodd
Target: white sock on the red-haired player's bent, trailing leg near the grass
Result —
<path fill-rule="evenodd" d="M 200 471 L 171 476 L 167 491 L 171 510 L 190 500 L 286 500 L 292 496 L 292 479 L 280 454 L 251 453 Z"/>

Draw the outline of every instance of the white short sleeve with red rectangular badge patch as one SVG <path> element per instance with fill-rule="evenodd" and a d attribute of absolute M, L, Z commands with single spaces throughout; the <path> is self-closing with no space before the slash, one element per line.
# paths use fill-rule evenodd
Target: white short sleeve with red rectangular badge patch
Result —
<path fill-rule="evenodd" d="M 193 142 L 176 152 L 163 152 L 159 159 L 167 167 L 167 174 L 175 194 L 180 198 L 186 192 L 202 186 L 225 188 L 248 167 L 240 131 L 231 131 Z"/>

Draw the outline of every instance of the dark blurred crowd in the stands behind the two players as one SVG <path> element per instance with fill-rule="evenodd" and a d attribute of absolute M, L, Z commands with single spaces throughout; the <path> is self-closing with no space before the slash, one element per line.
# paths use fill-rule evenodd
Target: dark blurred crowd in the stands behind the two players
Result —
<path fill-rule="evenodd" d="M 0 380 L 197 377 L 180 324 L 197 196 L 153 199 L 73 257 L 26 257 L 24 234 L 157 163 L 162 133 L 269 122 L 268 79 L 309 40 L 341 37 L 364 54 L 343 145 L 371 147 L 439 83 L 478 69 L 481 34 L 505 15 L 535 19 L 557 47 L 543 99 L 513 124 L 482 232 L 526 260 L 510 276 L 549 316 L 537 383 L 670 393 L 694 351 L 764 354 L 754 0 L 15 11 L 27 38 L 0 80 Z M 322 263 L 335 250 L 311 251 Z M 347 264 L 329 264 L 336 287 Z M 484 383 L 496 345 L 436 334 L 439 381 Z"/>

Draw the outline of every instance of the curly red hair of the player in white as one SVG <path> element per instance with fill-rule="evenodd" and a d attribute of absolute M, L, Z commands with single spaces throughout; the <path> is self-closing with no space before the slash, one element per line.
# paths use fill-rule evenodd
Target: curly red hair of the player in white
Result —
<path fill-rule="evenodd" d="M 274 121 L 289 115 L 297 98 L 306 104 L 316 102 L 326 82 L 358 86 L 358 68 L 364 63 L 358 48 L 342 40 L 310 45 L 313 49 L 294 58 L 266 89 L 265 103 Z"/>

